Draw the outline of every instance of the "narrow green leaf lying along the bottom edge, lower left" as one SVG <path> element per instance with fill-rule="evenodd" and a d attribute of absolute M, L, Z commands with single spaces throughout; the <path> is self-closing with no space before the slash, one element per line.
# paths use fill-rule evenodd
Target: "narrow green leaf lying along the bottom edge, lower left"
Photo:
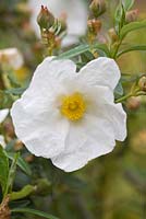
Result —
<path fill-rule="evenodd" d="M 15 209 L 12 209 L 11 212 L 24 212 L 24 214 L 27 212 L 27 214 L 35 215 L 35 216 L 40 216 L 42 218 L 59 219 L 47 212 L 42 212 L 42 211 L 31 209 L 31 208 L 15 208 Z"/>

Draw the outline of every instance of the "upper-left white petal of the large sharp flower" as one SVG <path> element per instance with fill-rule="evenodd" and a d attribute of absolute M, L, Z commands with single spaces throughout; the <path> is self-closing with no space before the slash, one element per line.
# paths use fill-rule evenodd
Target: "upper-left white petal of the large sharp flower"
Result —
<path fill-rule="evenodd" d="M 53 60 L 52 60 L 53 59 Z M 75 77 L 76 66 L 71 60 L 54 60 L 54 57 L 46 58 L 36 69 L 29 88 L 23 94 L 25 100 L 31 99 L 29 105 L 36 100 L 42 102 L 42 107 L 52 102 L 60 93 L 65 92 L 65 88 L 61 81 L 66 78 Z M 45 104 L 45 102 L 47 103 Z M 41 107 L 38 103 L 37 107 Z"/>

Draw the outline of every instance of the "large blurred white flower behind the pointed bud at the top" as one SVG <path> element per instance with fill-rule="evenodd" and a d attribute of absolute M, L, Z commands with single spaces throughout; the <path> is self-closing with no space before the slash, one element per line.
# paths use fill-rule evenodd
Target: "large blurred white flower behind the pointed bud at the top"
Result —
<path fill-rule="evenodd" d="M 56 18 L 60 18 L 64 13 L 66 14 L 68 36 L 63 39 L 63 46 L 76 43 L 78 36 L 85 34 L 87 27 L 87 7 L 84 0 L 29 0 L 28 3 L 33 11 L 32 25 L 38 36 L 40 36 L 40 32 L 37 24 L 37 15 L 41 5 L 47 7 Z"/>

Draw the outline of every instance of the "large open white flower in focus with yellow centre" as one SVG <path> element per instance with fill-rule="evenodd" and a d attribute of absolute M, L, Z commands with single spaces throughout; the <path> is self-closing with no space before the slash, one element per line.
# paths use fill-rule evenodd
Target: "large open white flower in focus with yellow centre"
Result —
<path fill-rule="evenodd" d="M 66 172 L 109 153 L 126 136 L 126 115 L 113 99 L 119 79 L 110 58 L 95 59 L 78 73 L 71 60 L 46 58 L 11 110 L 17 137 Z"/>

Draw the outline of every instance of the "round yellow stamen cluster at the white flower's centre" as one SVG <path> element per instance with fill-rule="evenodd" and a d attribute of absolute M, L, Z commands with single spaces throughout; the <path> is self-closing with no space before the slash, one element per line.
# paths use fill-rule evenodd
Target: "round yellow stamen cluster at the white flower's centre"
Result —
<path fill-rule="evenodd" d="M 78 120 L 83 117 L 86 110 L 85 101 L 81 93 L 62 97 L 61 113 L 70 120 Z"/>

